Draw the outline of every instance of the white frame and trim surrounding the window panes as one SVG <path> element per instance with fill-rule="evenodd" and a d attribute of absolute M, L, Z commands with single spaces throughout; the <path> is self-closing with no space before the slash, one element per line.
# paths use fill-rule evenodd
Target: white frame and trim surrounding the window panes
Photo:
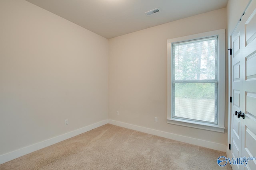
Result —
<path fill-rule="evenodd" d="M 172 43 L 194 39 L 218 36 L 218 122 L 217 124 L 203 123 L 172 117 Z M 167 40 L 167 123 L 217 131 L 224 133 L 225 127 L 225 29 L 209 31 Z"/>

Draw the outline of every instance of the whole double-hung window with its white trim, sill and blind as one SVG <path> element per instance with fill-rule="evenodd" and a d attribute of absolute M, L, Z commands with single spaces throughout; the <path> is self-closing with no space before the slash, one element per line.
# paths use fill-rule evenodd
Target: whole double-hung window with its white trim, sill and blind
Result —
<path fill-rule="evenodd" d="M 168 40 L 168 123 L 224 132 L 225 31 Z"/>

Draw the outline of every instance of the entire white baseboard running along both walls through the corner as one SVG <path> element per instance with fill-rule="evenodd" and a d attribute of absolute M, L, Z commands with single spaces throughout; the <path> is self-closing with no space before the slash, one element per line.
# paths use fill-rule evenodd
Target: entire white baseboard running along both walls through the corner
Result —
<path fill-rule="evenodd" d="M 29 153 L 34 152 L 36 150 L 43 149 L 43 148 L 48 147 L 50 145 L 53 145 L 55 143 L 64 141 L 64 140 L 69 139 L 71 137 L 74 137 L 76 135 L 80 135 L 82 133 L 85 133 L 87 131 L 90 131 L 92 129 L 95 129 L 97 127 L 105 125 L 107 123 L 110 123 L 112 125 L 117 125 L 117 126 L 120 126 L 120 127 L 125 127 L 125 128 L 132 129 L 132 130 L 136 130 L 136 131 L 140 131 L 140 132 L 144 132 L 144 133 L 148 133 L 148 134 L 151 134 L 151 135 L 165 137 L 165 138 L 172 139 L 172 140 L 175 140 L 175 141 L 189 143 L 189 144 L 192 144 L 192 145 L 198 145 L 198 146 L 201 146 L 201 147 L 206 147 L 206 148 L 210 148 L 210 149 L 214 149 L 214 150 L 220 150 L 220 151 L 226 152 L 228 154 L 228 150 L 227 150 L 226 145 L 223 145 L 223 144 L 220 144 L 220 143 L 204 141 L 204 140 L 201 140 L 201 139 L 186 137 L 186 136 L 182 136 L 182 135 L 176 135 L 176 134 L 173 134 L 173 133 L 158 131 L 158 130 L 155 130 L 155 129 L 150 129 L 150 128 L 146 128 L 146 127 L 141 127 L 141 126 L 137 126 L 137 125 L 132 125 L 132 124 L 128 124 L 128 123 L 108 119 L 108 120 L 104 120 L 104 121 L 94 123 L 92 125 L 88 125 L 86 127 L 82 127 L 80 129 L 76 129 L 74 131 L 65 133 L 63 135 L 59 135 L 57 137 L 53 137 L 51 139 L 47 139 L 45 141 L 30 145 L 28 147 L 24 147 L 24 148 L 14 150 L 14 151 L 6 153 L 6 154 L 2 154 L 2 155 L 0 155 L 0 164 L 3 164 L 3 163 L 8 162 L 10 160 L 16 159 L 20 156 L 29 154 Z"/>

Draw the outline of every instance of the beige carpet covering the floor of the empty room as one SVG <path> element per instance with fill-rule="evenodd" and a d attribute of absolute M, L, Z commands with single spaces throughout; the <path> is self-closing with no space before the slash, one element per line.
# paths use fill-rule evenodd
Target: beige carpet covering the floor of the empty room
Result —
<path fill-rule="evenodd" d="M 0 165 L 0 170 L 231 170 L 224 152 L 104 125 Z"/>

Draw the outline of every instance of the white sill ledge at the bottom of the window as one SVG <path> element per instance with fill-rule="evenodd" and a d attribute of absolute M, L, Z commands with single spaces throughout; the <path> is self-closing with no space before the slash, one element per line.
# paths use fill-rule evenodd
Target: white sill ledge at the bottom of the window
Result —
<path fill-rule="evenodd" d="M 197 129 L 204 129 L 208 131 L 216 131 L 221 133 L 224 133 L 225 131 L 225 127 L 218 127 L 217 125 L 211 125 L 208 123 L 193 122 L 181 119 L 167 119 L 167 123 L 186 127 L 193 127 Z"/>

